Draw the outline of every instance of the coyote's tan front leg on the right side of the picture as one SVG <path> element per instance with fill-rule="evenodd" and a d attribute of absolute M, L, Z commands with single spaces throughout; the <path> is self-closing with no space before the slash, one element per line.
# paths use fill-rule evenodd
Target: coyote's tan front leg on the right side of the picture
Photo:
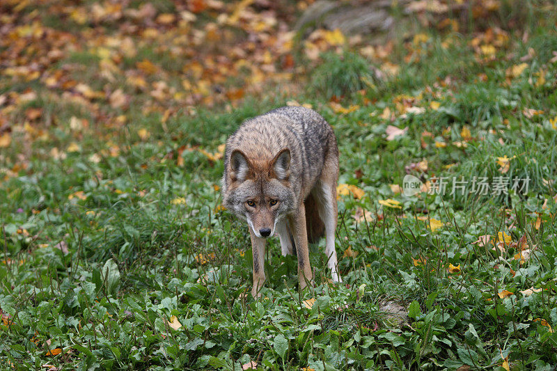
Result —
<path fill-rule="evenodd" d="M 296 253 L 298 255 L 299 290 L 304 290 L 308 283 L 313 285 L 313 273 L 309 264 L 308 231 L 306 230 L 306 208 L 301 203 L 295 214 L 289 216 L 294 233 Z"/>

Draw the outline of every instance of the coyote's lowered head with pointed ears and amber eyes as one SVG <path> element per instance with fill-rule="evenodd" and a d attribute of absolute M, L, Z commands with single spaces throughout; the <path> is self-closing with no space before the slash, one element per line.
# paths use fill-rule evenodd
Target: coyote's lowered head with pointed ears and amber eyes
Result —
<path fill-rule="evenodd" d="M 270 161 L 253 159 L 240 150 L 233 150 L 229 177 L 223 203 L 228 210 L 245 219 L 257 237 L 272 236 L 276 223 L 295 209 L 287 148 Z"/>

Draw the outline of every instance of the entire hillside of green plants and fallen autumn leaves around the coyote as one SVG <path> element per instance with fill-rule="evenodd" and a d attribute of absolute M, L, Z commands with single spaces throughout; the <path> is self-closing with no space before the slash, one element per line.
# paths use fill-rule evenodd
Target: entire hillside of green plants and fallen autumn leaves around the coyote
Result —
<path fill-rule="evenodd" d="M 554 4 L 401 1 L 372 43 L 311 3 L 0 5 L 1 369 L 557 365 Z M 336 132 L 344 282 L 272 240 L 254 300 L 222 143 L 285 104 Z"/>

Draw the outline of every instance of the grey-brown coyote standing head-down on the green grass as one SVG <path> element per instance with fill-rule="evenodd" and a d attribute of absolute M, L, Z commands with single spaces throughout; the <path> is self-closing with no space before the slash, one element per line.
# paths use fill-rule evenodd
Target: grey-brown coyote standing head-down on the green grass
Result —
<path fill-rule="evenodd" d="M 265 242 L 278 235 L 283 255 L 297 253 L 299 290 L 313 282 L 308 242 L 326 237 L 327 267 L 338 274 L 335 250 L 338 147 L 319 113 L 284 106 L 246 120 L 226 141 L 223 205 L 249 226 L 253 297 L 265 283 Z"/>

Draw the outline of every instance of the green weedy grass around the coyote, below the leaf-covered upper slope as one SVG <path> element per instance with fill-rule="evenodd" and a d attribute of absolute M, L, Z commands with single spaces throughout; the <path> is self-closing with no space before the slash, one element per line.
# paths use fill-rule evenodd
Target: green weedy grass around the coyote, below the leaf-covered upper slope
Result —
<path fill-rule="evenodd" d="M 152 90 L 125 90 L 127 106 L 93 98 L 91 113 L 3 79 L 10 99 L 36 92 L 10 120 L 38 108 L 56 125 L 19 125 L 0 148 L 0 368 L 551 370 L 557 33 L 554 10 L 538 12 L 527 36 L 425 30 L 382 61 L 328 52 L 295 96 L 279 86 L 169 117 L 139 104 Z M 98 91 L 80 67 L 97 62 L 60 63 Z M 321 241 L 315 288 L 298 292 L 295 258 L 272 240 L 255 301 L 247 228 L 219 207 L 219 145 L 292 100 L 338 139 L 344 283 L 329 283 Z M 391 137 L 389 125 L 407 129 Z M 407 173 L 429 189 L 446 177 L 447 191 L 405 196 Z M 464 193 L 451 194 L 453 177 Z M 473 177 L 509 184 L 481 195 Z"/>

